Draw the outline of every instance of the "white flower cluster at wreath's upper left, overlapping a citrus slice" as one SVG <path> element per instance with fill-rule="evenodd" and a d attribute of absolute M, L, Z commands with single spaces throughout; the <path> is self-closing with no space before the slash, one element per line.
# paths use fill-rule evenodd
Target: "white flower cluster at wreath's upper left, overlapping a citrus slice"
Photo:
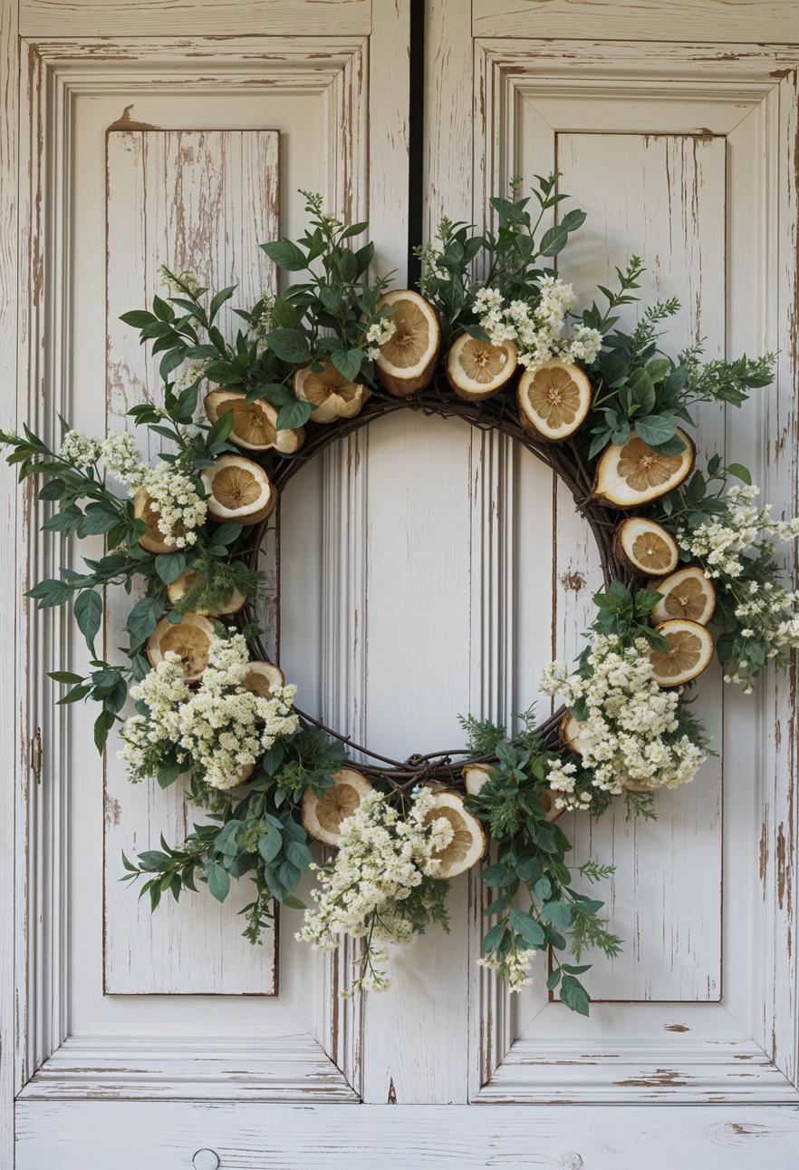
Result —
<path fill-rule="evenodd" d="M 131 495 L 141 488 L 148 494 L 153 508 L 158 509 L 158 528 L 165 539 L 176 549 L 196 543 L 196 529 L 206 523 L 208 504 L 187 475 L 172 463 L 150 467 L 136 439 L 127 432 L 109 435 L 102 445 L 102 454 L 106 472 L 125 483 Z"/>

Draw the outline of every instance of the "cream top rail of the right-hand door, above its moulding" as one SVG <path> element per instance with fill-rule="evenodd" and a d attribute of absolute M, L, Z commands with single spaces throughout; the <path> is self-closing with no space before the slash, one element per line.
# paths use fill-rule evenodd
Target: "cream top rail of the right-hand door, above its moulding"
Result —
<path fill-rule="evenodd" d="M 799 40 L 792 0 L 676 0 L 662 5 L 638 0 L 474 0 L 475 36 L 575 36 L 628 41 L 749 41 L 762 30 L 764 41 Z"/>

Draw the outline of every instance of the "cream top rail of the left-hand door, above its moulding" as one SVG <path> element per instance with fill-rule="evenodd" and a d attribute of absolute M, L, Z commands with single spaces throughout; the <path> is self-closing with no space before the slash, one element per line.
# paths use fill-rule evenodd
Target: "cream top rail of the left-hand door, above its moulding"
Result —
<path fill-rule="evenodd" d="M 371 0 L 187 0 L 164 5 L 161 0 L 126 4 L 125 0 L 21 0 L 22 36 L 148 36 L 186 33 L 264 33 L 273 36 L 313 30 L 343 36 L 368 34 Z"/>

